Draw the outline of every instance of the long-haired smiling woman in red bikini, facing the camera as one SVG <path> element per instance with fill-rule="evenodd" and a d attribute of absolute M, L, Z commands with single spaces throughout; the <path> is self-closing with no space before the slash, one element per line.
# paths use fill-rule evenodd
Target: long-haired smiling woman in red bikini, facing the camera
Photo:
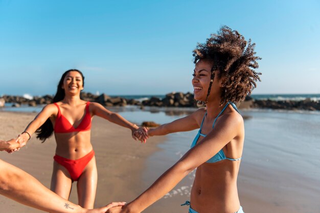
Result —
<path fill-rule="evenodd" d="M 54 156 L 51 190 L 68 199 L 73 181 L 78 181 L 78 202 L 84 208 L 93 208 L 97 188 L 95 152 L 90 143 L 92 117 L 97 115 L 112 123 L 129 128 L 138 126 L 101 104 L 80 99 L 84 76 L 79 70 L 67 70 L 58 84 L 52 104 L 46 105 L 17 138 L 25 145 L 34 132 L 44 141 L 54 132 L 57 148 Z M 140 138 L 144 141 L 145 138 Z"/>

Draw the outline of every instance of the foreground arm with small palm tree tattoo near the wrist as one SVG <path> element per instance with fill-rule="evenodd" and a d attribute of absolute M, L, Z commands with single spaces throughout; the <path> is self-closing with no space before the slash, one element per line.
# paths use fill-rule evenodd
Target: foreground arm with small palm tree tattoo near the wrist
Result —
<path fill-rule="evenodd" d="M 100 209 L 87 210 L 71 203 L 45 188 L 38 180 L 28 173 L 0 160 L 0 194 L 19 203 L 43 211 L 50 212 L 92 212 L 102 213 L 113 206 L 125 203 L 111 203 Z M 10 211 L 10 210 L 8 210 Z"/>

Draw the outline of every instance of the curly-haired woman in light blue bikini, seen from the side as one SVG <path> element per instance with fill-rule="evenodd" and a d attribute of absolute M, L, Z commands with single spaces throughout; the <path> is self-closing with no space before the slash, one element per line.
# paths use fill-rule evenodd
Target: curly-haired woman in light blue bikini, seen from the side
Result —
<path fill-rule="evenodd" d="M 190 213 L 243 212 L 237 176 L 244 142 L 244 125 L 233 102 L 242 101 L 260 81 L 255 44 L 237 31 L 223 26 L 193 51 L 194 98 L 205 108 L 153 129 L 140 129 L 143 136 L 161 136 L 199 128 L 191 149 L 138 198 L 107 212 L 141 212 L 188 173 L 196 170 L 191 190 Z M 184 204 L 182 204 L 184 205 Z"/>

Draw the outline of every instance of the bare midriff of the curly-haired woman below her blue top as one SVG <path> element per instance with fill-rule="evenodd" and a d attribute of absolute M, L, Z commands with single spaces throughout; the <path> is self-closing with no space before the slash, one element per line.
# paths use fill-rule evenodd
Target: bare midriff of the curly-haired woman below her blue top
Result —
<path fill-rule="evenodd" d="M 240 161 L 204 163 L 196 170 L 191 208 L 197 212 L 231 213 L 239 210 L 237 175 Z"/>

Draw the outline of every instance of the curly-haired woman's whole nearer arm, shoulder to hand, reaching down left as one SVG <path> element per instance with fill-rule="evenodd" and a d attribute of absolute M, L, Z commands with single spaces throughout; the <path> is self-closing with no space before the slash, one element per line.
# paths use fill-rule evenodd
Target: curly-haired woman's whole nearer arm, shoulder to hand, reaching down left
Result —
<path fill-rule="evenodd" d="M 242 127 L 241 118 L 235 116 L 221 116 L 215 129 L 203 138 L 200 143 L 190 149 L 180 160 L 161 175 L 149 189 L 138 198 L 123 207 L 115 207 L 107 212 L 141 212 L 149 205 L 161 199 L 166 193 L 192 170 L 208 161 L 228 142 L 235 139 Z"/>

